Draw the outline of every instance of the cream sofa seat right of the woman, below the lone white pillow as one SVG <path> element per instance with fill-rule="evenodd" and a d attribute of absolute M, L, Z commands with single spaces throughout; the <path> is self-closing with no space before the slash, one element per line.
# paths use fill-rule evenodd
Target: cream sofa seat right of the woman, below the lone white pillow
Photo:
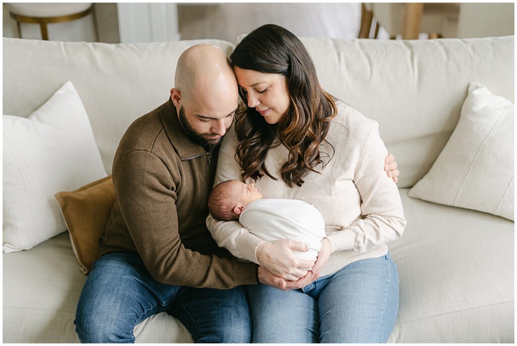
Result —
<path fill-rule="evenodd" d="M 400 278 L 389 342 L 513 342 L 514 223 L 407 196 L 389 245 Z"/>

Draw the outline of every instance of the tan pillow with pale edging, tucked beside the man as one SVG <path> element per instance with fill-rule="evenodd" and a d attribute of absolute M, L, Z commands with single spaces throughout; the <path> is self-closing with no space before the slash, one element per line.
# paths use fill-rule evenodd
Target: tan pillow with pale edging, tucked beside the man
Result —
<path fill-rule="evenodd" d="M 72 192 L 54 195 L 61 206 L 75 257 L 87 275 L 99 256 L 99 239 L 115 203 L 111 176 L 89 183 Z"/>

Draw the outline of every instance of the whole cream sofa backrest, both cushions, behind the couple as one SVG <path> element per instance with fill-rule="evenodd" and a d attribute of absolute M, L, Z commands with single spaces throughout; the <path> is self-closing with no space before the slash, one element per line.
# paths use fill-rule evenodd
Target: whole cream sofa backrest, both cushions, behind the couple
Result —
<path fill-rule="evenodd" d="M 399 187 L 413 186 L 429 171 L 458 122 L 469 82 L 514 102 L 513 36 L 301 40 L 322 86 L 379 122 L 399 163 Z M 4 113 L 27 116 L 71 80 L 110 174 L 128 125 L 169 97 L 179 54 L 201 42 L 227 53 L 233 49 L 220 40 L 103 44 L 4 38 Z"/>

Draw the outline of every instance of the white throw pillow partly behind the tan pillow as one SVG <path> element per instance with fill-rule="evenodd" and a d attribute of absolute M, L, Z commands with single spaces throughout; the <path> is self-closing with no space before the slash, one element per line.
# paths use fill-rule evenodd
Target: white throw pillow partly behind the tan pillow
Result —
<path fill-rule="evenodd" d="M 54 194 L 107 176 L 86 109 L 68 81 L 27 118 L 3 116 L 3 251 L 66 230 Z"/>

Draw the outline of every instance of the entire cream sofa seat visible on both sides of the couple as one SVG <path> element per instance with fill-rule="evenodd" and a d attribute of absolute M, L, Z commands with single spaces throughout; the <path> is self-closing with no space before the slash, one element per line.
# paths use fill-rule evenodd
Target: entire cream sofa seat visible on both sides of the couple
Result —
<path fill-rule="evenodd" d="M 407 228 L 389 245 L 400 277 L 389 342 L 513 342 L 514 223 L 409 198 L 408 190 L 400 190 Z M 67 233 L 4 254 L 3 269 L 4 342 L 79 342 L 73 320 L 86 276 Z M 134 333 L 136 342 L 192 342 L 164 312 Z"/>

